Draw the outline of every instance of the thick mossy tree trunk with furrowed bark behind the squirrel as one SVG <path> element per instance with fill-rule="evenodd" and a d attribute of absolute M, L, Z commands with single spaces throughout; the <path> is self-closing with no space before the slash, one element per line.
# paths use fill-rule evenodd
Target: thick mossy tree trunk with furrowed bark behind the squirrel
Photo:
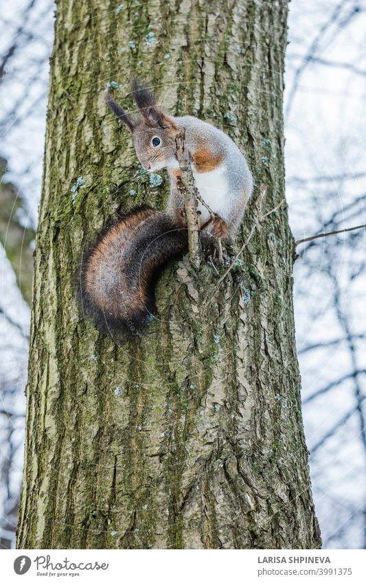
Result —
<path fill-rule="evenodd" d="M 277 549 L 321 544 L 301 420 L 286 206 L 222 283 L 163 273 L 144 335 L 86 323 L 74 273 L 121 209 L 163 208 L 104 104 L 131 72 L 171 113 L 222 127 L 257 187 L 237 246 L 284 197 L 286 1 L 59 0 L 36 244 L 20 548 Z M 119 84 L 117 86 L 117 83 Z M 231 254 L 234 253 L 231 251 Z"/>

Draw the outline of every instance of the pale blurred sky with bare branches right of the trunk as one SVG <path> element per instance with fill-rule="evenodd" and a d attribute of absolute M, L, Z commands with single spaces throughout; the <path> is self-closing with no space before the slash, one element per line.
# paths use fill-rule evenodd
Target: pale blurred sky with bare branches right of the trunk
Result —
<path fill-rule="evenodd" d="M 365 0 L 291 3 L 286 194 L 297 239 L 366 222 L 365 25 Z M 366 545 L 365 234 L 301 245 L 294 269 L 304 424 L 325 548 Z"/>

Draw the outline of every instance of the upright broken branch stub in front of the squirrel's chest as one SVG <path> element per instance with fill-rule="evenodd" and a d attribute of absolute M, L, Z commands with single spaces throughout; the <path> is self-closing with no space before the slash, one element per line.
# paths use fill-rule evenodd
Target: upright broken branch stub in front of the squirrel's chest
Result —
<path fill-rule="evenodd" d="M 190 155 L 185 149 L 185 129 L 183 128 L 175 139 L 176 159 L 181 170 L 181 192 L 184 197 L 185 214 L 187 216 L 188 248 L 190 251 L 190 262 L 198 269 L 201 263 L 200 243 L 198 238 L 198 218 L 196 185 L 192 174 Z"/>

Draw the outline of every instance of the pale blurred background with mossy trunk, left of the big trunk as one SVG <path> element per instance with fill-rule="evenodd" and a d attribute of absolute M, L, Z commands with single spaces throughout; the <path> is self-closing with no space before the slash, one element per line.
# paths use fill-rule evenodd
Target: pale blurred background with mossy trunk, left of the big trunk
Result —
<path fill-rule="evenodd" d="M 0 549 L 14 547 L 52 1 L 12 2 L 0 19 Z M 3 172 L 6 175 L 3 177 Z"/>

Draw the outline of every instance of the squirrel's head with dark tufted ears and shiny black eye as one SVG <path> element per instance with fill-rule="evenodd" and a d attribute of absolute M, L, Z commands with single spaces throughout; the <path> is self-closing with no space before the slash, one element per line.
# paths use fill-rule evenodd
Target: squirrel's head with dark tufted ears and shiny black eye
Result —
<path fill-rule="evenodd" d="M 174 120 L 161 111 L 154 95 L 137 80 L 132 83 L 132 94 L 140 112 L 137 115 L 127 113 L 108 93 L 105 97 L 112 111 L 132 133 L 137 158 L 150 171 L 176 166 L 178 128 Z"/>

